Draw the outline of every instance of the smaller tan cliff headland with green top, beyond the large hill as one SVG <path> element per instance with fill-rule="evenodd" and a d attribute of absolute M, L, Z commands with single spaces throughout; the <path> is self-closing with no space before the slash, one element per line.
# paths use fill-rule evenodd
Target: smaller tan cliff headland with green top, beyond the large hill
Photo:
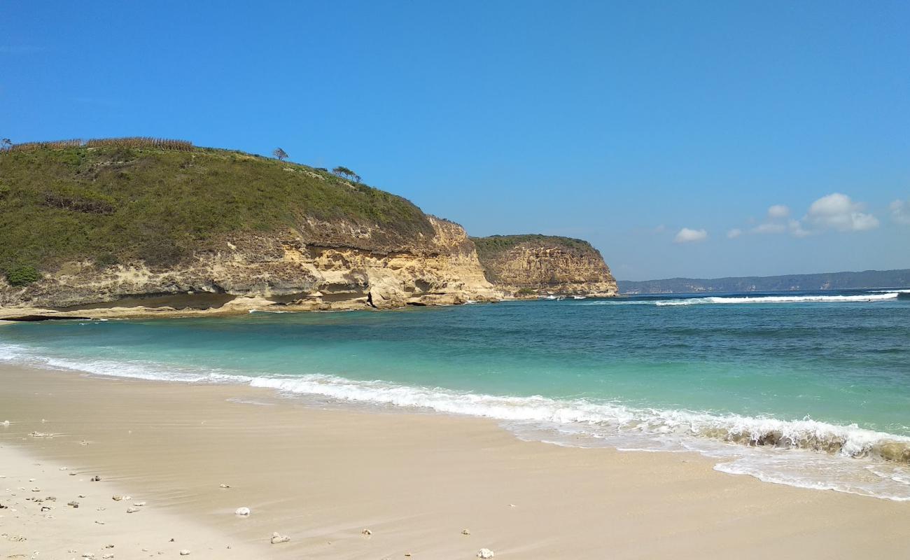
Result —
<path fill-rule="evenodd" d="M 581 239 L 521 235 L 473 240 L 487 279 L 512 296 L 617 294 L 601 253 Z"/>

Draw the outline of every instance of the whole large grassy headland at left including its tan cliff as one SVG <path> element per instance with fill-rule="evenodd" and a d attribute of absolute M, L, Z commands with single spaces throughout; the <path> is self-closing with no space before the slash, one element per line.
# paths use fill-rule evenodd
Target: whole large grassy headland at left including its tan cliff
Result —
<path fill-rule="evenodd" d="M 497 299 L 458 224 L 324 170 L 192 148 L 0 154 L 0 317 Z"/>

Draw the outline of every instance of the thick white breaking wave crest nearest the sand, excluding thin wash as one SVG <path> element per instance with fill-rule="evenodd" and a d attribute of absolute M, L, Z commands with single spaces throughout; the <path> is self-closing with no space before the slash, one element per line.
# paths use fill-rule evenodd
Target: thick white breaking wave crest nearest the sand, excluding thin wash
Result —
<path fill-rule="evenodd" d="M 618 403 L 558 401 L 539 395 L 502 397 L 388 382 L 352 382 L 332 375 L 256 377 L 250 384 L 280 392 L 319 394 L 342 401 L 425 408 L 497 420 L 585 423 L 601 430 L 654 435 L 673 433 L 749 446 L 805 449 L 910 464 L 910 437 L 865 430 L 855 424 L 842 426 L 811 419 L 787 421 L 711 412 L 636 409 Z"/>

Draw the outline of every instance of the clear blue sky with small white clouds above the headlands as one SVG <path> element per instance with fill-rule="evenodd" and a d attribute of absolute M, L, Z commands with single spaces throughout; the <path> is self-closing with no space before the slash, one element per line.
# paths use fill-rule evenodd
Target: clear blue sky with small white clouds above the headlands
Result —
<path fill-rule="evenodd" d="M 7 0 L 0 136 L 281 147 L 625 280 L 908 268 L 908 28 L 906 2 Z"/>

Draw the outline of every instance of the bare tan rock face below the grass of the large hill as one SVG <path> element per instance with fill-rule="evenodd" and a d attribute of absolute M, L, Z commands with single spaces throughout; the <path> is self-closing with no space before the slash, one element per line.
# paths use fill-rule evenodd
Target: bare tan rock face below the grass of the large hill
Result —
<path fill-rule="evenodd" d="M 433 234 L 415 239 L 389 239 L 376 227 L 344 221 L 309 221 L 284 236 L 225 239 L 167 270 L 141 261 L 104 269 L 67 262 L 25 288 L 0 280 L 0 308 L 5 316 L 25 308 L 108 316 L 137 306 L 308 311 L 497 299 L 464 229 L 428 218 Z"/>

